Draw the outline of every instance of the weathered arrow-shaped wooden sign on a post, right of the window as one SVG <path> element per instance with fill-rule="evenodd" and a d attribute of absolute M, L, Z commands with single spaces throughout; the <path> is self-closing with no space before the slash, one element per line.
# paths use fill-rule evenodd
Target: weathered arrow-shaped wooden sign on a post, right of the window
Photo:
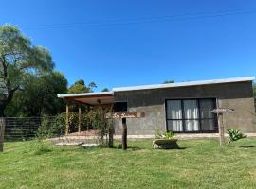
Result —
<path fill-rule="evenodd" d="M 211 112 L 217 114 L 218 116 L 218 125 L 219 125 L 219 134 L 220 134 L 220 146 L 225 145 L 225 136 L 224 136 L 224 123 L 223 123 L 223 113 L 234 113 L 233 109 L 225 109 L 225 108 L 218 108 L 214 109 Z"/>

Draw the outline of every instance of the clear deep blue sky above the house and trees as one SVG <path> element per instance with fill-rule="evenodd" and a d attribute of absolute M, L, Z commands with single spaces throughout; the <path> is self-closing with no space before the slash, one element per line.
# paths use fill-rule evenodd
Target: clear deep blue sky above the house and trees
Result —
<path fill-rule="evenodd" d="M 0 25 L 46 47 L 69 85 L 256 75 L 255 0 L 1 0 Z"/>

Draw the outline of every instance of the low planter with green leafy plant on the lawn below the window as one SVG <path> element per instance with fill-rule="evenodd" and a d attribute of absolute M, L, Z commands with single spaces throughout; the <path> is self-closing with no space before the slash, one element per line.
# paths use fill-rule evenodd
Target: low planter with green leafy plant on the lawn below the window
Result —
<path fill-rule="evenodd" d="M 155 130 L 155 140 L 152 144 L 154 149 L 178 149 L 177 139 L 173 132 L 164 132 L 160 134 L 159 130 Z"/>

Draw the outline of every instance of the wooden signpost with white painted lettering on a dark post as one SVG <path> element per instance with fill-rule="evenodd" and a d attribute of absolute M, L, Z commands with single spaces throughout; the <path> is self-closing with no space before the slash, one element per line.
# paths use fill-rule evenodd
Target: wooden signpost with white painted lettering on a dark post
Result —
<path fill-rule="evenodd" d="M 106 113 L 106 118 L 112 118 L 112 119 L 121 119 L 122 123 L 122 137 L 121 137 L 121 145 L 122 149 L 127 149 L 127 124 L 126 124 L 126 118 L 141 118 L 145 117 L 144 112 L 110 112 Z"/>

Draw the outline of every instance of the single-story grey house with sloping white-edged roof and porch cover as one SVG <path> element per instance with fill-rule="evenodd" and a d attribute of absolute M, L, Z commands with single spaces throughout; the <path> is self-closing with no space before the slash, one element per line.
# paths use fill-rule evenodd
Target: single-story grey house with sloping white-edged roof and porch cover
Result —
<path fill-rule="evenodd" d="M 255 77 L 177 82 L 114 88 L 111 92 L 59 94 L 65 100 L 88 105 L 114 106 L 119 112 L 145 112 L 145 117 L 127 119 L 128 135 L 154 135 L 155 129 L 177 133 L 218 132 L 216 108 L 224 113 L 225 127 L 256 132 L 252 82 Z M 121 120 L 115 133 L 121 134 Z"/>

